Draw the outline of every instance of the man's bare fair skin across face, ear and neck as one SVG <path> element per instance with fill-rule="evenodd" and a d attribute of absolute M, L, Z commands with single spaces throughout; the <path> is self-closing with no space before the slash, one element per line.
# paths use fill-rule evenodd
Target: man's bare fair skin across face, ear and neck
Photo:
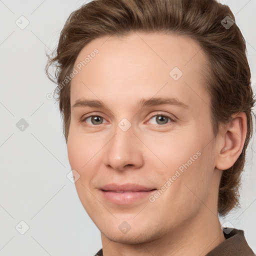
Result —
<path fill-rule="evenodd" d="M 79 199 L 101 232 L 104 256 L 205 255 L 225 240 L 217 214 L 218 186 L 223 170 L 241 153 L 245 114 L 222 124 L 214 138 L 203 87 L 206 58 L 188 37 L 104 36 L 85 45 L 75 65 L 94 48 L 98 54 L 71 81 L 67 150 L 71 168 L 80 175 L 75 182 Z M 175 66 L 183 72 L 176 81 L 169 75 Z M 188 108 L 137 105 L 152 97 L 176 98 Z M 81 98 L 105 106 L 72 107 Z M 157 122 L 157 114 L 175 120 Z M 84 119 L 90 115 L 102 118 Z M 123 118 L 131 124 L 126 131 L 118 126 Z M 98 189 L 111 182 L 161 189 L 197 151 L 200 156 L 153 202 L 145 197 L 113 204 Z M 130 226 L 126 233 L 118 228 L 123 221 Z"/>

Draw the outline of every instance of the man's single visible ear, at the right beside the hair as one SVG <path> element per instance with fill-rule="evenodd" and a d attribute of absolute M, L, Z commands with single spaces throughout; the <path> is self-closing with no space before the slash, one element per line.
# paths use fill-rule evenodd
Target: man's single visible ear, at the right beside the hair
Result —
<path fill-rule="evenodd" d="M 233 114 L 231 121 L 219 132 L 216 168 L 225 170 L 234 164 L 242 151 L 246 132 L 246 114 L 244 112 Z"/>

